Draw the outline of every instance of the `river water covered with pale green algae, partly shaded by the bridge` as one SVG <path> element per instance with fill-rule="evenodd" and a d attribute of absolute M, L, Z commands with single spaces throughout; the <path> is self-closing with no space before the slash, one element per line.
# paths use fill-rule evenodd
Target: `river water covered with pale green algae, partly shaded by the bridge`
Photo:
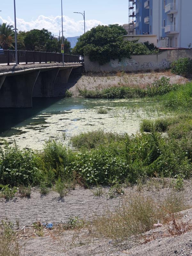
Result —
<path fill-rule="evenodd" d="M 138 131 L 141 118 L 148 116 L 153 105 L 145 100 L 36 98 L 33 108 L 0 109 L 0 136 L 10 143 L 15 139 L 21 148 L 41 149 L 45 140 L 63 133 L 66 141 L 74 134 L 97 129 L 131 134 Z M 100 107 L 108 113 L 98 114 Z M 153 112 L 150 115 L 155 117 Z"/>

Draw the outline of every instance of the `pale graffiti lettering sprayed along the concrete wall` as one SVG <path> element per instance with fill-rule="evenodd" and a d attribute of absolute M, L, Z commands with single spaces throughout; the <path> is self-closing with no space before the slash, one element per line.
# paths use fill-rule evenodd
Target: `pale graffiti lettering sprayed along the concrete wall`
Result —
<path fill-rule="evenodd" d="M 139 62 L 130 59 L 123 59 L 121 61 L 118 60 L 111 60 L 110 65 L 112 68 L 121 67 L 122 69 L 128 67 L 132 67 L 131 69 L 139 70 L 139 69 L 155 69 L 155 68 L 169 68 L 171 62 L 163 59 L 160 63 L 156 63 L 153 61 L 149 62 Z"/>

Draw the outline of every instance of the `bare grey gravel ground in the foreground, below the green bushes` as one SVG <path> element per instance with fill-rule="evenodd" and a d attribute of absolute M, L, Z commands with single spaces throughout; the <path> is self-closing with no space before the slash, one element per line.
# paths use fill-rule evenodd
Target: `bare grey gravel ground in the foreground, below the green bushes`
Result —
<path fill-rule="evenodd" d="M 191 181 L 186 181 L 184 194 L 188 205 L 192 204 Z M 33 188 L 31 197 L 20 197 L 18 194 L 10 201 L 0 199 L 0 219 L 8 219 L 12 222 L 19 221 L 19 227 L 31 228 L 32 223 L 39 220 L 52 222 L 54 227 L 59 223 L 66 223 L 70 216 L 78 216 L 80 219 L 92 220 L 95 214 L 102 214 L 107 208 L 114 210 L 122 201 L 129 200 L 133 193 L 142 193 L 144 196 L 152 196 L 156 200 L 170 193 L 170 188 L 124 188 L 124 195 L 109 199 L 109 188 L 103 187 L 103 196 L 94 196 L 95 188 L 84 189 L 76 187 L 63 199 L 51 191 L 47 196 L 41 196 L 38 188 Z M 131 193 L 131 194 L 130 194 Z M 187 222 L 192 219 L 192 209 L 181 212 L 182 220 Z M 25 242 L 25 256 L 169 256 L 169 255 L 192 255 L 192 231 L 180 236 L 166 236 L 167 225 L 161 228 L 151 229 L 145 233 L 147 237 L 153 237 L 148 243 L 135 243 L 125 241 L 116 244 L 111 239 L 92 237 L 90 231 L 83 228 L 77 234 L 73 230 L 62 233 L 54 233 L 54 228 L 47 231 L 43 236 L 27 236 Z M 154 238 L 155 237 L 155 238 Z"/>

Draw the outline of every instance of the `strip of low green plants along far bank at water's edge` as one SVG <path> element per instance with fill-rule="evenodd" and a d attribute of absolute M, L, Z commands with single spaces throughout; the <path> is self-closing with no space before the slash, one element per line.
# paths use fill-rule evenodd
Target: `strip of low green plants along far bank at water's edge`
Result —
<path fill-rule="evenodd" d="M 176 91 L 180 87 L 179 84 L 170 84 L 170 78 L 162 77 L 154 81 L 147 88 L 131 88 L 131 87 L 109 87 L 99 90 L 79 89 L 81 96 L 85 98 L 110 98 L 110 99 L 132 99 L 154 97 L 156 95 L 163 95 L 170 91 Z"/>

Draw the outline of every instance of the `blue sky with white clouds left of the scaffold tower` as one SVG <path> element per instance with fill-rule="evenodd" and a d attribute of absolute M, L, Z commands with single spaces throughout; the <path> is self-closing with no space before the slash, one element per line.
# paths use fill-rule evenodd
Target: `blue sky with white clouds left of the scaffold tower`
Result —
<path fill-rule="evenodd" d="M 0 3 L 0 23 L 14 24 L 13 0 Z M 54 35 L 61 31 L 61 0 L 15 0 L 17 28 L 48 29 Z M 80 36 L 84 33 L 81 14 L 85 11 L 85 28 L 93 26 L 128 23 L 128 0 L 63 0 L 63 30 L 65 37 Z"/>

